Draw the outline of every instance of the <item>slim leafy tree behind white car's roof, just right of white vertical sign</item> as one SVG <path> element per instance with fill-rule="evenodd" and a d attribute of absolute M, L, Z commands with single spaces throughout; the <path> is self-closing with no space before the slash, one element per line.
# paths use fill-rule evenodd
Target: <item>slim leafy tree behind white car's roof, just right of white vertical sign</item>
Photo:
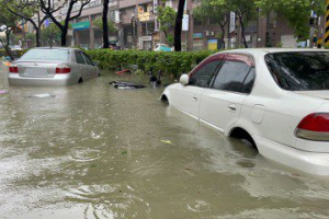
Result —
<path fill-rule="evenodd" d="M 246 41 L 246 22 L 257 15 L 256 0 L 212 0 L 213 7 L 226 8 L 234 11 L 241 27 L 241 38 L 243 46 L 248 48 Z"/>

